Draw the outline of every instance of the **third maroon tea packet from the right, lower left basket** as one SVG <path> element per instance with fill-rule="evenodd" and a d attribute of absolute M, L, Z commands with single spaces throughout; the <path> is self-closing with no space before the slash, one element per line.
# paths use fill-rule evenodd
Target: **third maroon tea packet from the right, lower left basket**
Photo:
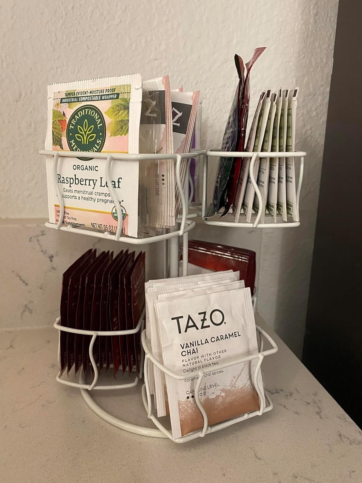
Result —
<path fill-rule="evenodd" d="M 107 327 L 108 330 L 118 330 L 118 278 L 119 272 L 122 269 L 125 260 L 128 256 L 128 250 L 119 258 L 110 272 L 109 287 L 108 287 L 108 301 L 107 301 Z M 108 343 L 107 343 L 108 342 Z M 113 363 L 114 377 L 121 365 L 121 355 L 119 350 L 119 336 L 111 336 L 106 340 L 106 354 L 109 364 Z"/>

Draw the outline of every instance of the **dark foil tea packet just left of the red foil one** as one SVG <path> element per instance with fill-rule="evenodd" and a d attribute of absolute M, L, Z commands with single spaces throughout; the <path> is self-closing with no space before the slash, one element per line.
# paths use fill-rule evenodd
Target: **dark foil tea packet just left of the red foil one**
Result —
<path fill-rule="evenodd" d="M 231 109 L 229 113 L 229 117 L 227 119 L 224 135 L 223 135 L 223 142 L 222 142 L 222 151 L 235 151 L 237 146 L 238 140 L 238 117 L 239 117 L 239 97 L 240 92 L 242 92 L 244 88 L 244 63 L 241 57 L 235 56 L 235 64 L 237 68 L 237 73 L 239 76 L 239 81 L 237 84 L 237 88 L 235 91 L 234 99 L 231 104 Z M 230 157 L 221 157 L 218 165 L 218 170 L 216 174 L 215 180 L 215 188 L 214 188 L 214 195 L 212 199 L 212 203 L 206 210 L 205 216 L 207 218 L 214 216 L 218 211 L 225 206 L 225 189 L 229 179 L 230 171 L 233 165 L 233 158 Z"/>

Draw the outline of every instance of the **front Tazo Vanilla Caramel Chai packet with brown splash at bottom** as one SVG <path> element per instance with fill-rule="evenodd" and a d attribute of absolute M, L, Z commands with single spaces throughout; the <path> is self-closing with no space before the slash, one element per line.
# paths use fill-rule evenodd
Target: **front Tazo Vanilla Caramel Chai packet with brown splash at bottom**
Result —
<path fill-rule="evenodd" d="M 257 359 L 218 369 L 229 358 L 258 353 L 250 288 L 155 303 L 164 364 L 190 378 L 166 376 L 172 437 L 199 430 L 203 417 L 195 403 L 197 374 L 205 370 L 199 390 L 209 425 L 260 409 L 252 383 Z M 261 372 L 257 378 L 264 399 Z"/>

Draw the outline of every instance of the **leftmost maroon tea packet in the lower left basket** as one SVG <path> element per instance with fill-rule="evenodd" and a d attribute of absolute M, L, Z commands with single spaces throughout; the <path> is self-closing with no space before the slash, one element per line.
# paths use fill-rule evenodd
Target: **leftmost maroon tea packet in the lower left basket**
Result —
<path fill-rule="evenodd" d="M 96 250 L 93 250 L 91 254 L 84 260 L 73 273 L 70 275 L 69 280 L 69 292 L 68 292 L 68 327 L 76 328 L 76 313 L 77 304 L 79 298 L 79 289 L 81 282 L 81 275 L 84 270 L 92 264 L 96 258 Z M 75 334 L 72 332 L 67 333 L 67 373 L 69 373 L 71 367 L 74 364 L 74 339 Z"/>

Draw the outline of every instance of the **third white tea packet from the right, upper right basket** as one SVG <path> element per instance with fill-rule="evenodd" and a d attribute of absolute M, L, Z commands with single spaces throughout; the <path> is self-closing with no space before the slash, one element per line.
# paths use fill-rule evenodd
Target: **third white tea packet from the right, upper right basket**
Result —
<path fill-rule="evenodd" d="M 280 109 L 282 103 L 282 92 L 279 89 L 277 93 L 276 101 L 276 111 L 274 116 L 273 131 L 272 131 L 272 144 L 271 152 L 278 152 L 279 148 L 279 121 L 280 121 Z M 272 215 L 274 223 L 277 221 L 277 202 L 278 202 L 278 168 L 279 159 L 278 157 L 270 158 L 269 166 L 269 188 L 268 188 L 268 201 L 266 203 L 266 208 L 268 212 Z"/>

